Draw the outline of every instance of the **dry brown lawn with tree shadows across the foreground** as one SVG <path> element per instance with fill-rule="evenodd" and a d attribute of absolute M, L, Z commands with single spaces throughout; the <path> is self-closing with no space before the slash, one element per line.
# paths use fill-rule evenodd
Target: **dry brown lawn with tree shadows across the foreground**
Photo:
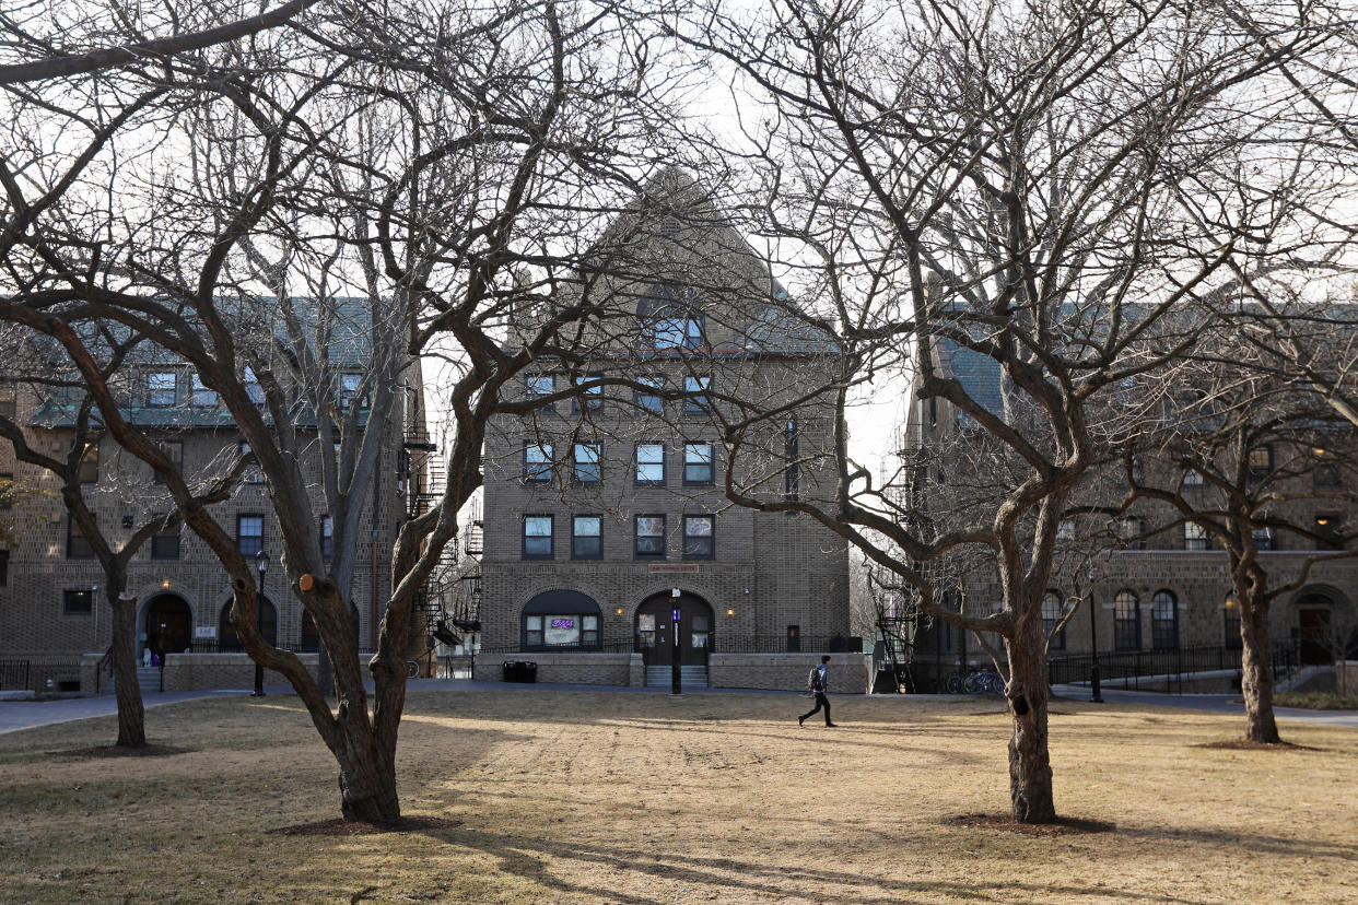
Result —
<path fill-rule="evenodd" d="M 976 699 L 835 700 L 799 729 L 773 695 L 411 693 L 407 814 L 338 813 L 295 699 L 148 712 L 149 758 L 77 753 L 111 718 L 0 735 L 4 902 L 1358 901 L 1358 731 L 1202 748 L 1238 719 L 1059 701 L 1057 803 L 1111 832 L 1024 836 L 1008 719 Z M 957 820 L 963 815 L 982 815 Z"/>

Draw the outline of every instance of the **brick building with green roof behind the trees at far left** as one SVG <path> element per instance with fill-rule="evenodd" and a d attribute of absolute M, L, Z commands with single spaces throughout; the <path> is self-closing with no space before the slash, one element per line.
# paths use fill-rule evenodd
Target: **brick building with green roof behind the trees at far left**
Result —
<path fill-rule="evenodd" d="M 353 317 L 361 317 L 367 307 L 350 308 Z M 357 384 L 365 360 L 364 335 L 364 330 L 350 331 L 356 343 L 337 358 L 340 393 Z M 190 482 L 220 474 L 244 449 L 216 393 L 202 387 L 182 362 L 163 358 L 139 364 L 128 369 L 125 383 L 125 417 L 162 442 Z M 353 582 L 360 649 L 373 647 L 380 620 L 378 606 L 390 588 L 384 551 L 391 550 L 411 494 L 422 490 L 420 475 L 428 444 L 418 362 L 406 369 L 401 389 L 402 404 L 384 427 L 382 464 L 359 532 L 361 539 L 371 537 L 371 543 L 359 544 Z M 341 402 L 364 404 L 361 399 Z M 60 456 L 69 448 L 73 403 L 68 399 L 39 398 L 19 383 L 0 389 L 0 407 L 24 426 L 30 445 L 41 452 Z M 314 421 L 310 418 L 312 425 Z M 304 407 L 299 407 L 296 425 L 303 437 L 307 422 Z M 311 442 L 301 446 L 312 457 L 307 469 L 315 476 L 315 510 L 325 512 L 318 457 L 322 450 L 314 427 L 311 436 Z M 0 551 L 0 661 L 26 662 L 27 684 L 38 691 L 107 688 L 107 672 L 96 674 L 95 669 L 109 649 L 111 632 L 110 608 L 99 592 L 103 573 L 88 541 L 72 528 L 58 495 L 60 480 L 37 465 L 16 461 L 8 444 L 0 444 L 0 478 L 12 480 L 15 488 L 3 513 L 11 526 L 11 543 Z M 121 450 L 109 436 L 90 446 L 84 480 L 86 498 L 115 548 L 149 514 L 170 509 L 170 497 L 149 465 Z M 318 635 L 310 616 L 285 588 L 277 522 L 263 476 L 247 469 L 231 499 L 215 505 L 212 512 L 227 531 L 235 532 L 247 559 L 258 551 L 273 558 L 263 585 L 265 636 L 280 646 L 316 651 Z M 329 535 L 325 516 L 322 535 Z M 227 615 L 231 605 L 227 575 L 190 529 L 181 526 L 156 535 L 134 555 L 128 593 L 139 601 L 137 655 L 145 650 L 168 654 L 167 689 L 249 687 L 253 665 L 238 653 L 239 642 Z"/>

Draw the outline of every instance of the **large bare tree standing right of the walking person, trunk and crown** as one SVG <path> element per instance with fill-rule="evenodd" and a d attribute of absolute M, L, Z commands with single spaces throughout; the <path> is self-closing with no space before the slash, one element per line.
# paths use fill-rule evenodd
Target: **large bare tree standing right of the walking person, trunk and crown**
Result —
<path fill-rule="evenodd" d="M 1238 244 L 1275 237 L 1260 267 L 1316 242 L 1275 204 L 1294 171 L 1247 163 L 1294 102 L 1270 75 L 1324 37 L 1277 23 L 1260 53 L 1224 24 L 1173 3 L 771 3 L 755 22 L 709 5 L 695 26 L 770 110 L 744 123 L 765 228 L 842 339 L 842 387 L 913 369 L 917 396 L 1005 463 L 995 507 L 929 531 L 898 518 L 843 429 L 834 505 L 728 491 L 820 518 L 925 612 L 1004 640 L 1020 821 L 1057 813 L 1042 600 L 1066 503 L 1105 456 L 1090 404 L 1194 343 Z M 964 545 L 994 559 L 994 612 L 942 606 L 918 566 Z"/>

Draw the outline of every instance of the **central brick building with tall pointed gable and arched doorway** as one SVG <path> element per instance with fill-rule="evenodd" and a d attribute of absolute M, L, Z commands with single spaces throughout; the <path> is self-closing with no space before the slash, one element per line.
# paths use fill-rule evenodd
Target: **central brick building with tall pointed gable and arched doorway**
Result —
<path fill-rule="evenodd" d="M 574 364 L 539 360 L 513 388 L 584 391 L 488 430 L 478 677 L 511 658 L 543 680 L 668 685 L 678 650 L 689 687 L 796 688 L 811 654 L 851 647 L 841 688 L 862 688 L 845 541 L 724 495 L 731 461 L 743 479 L 766 472 L 762 493 L 828 493 L 832 400 L 788 408 L 732 459 L 717 423 L 736 399 L 799 399 L 837 349 L 788 316 L 786 293 L 693 182 L 671 172 L 653 190 L 659 202 L 614 227 L 644 275 L 602 281 L 614 317 Z"/>

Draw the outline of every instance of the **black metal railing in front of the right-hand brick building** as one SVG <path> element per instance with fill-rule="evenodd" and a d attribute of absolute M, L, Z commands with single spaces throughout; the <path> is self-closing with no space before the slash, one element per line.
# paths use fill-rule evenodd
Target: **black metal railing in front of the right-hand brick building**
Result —
<path fill-rule="evenodd" d="M 1186 681 L 1198 673 L 1240 673 L 1240 649 L 1226 644 L 1179 647 L 1175 650 L 1124 650 L 1101 653 L 1099 677 L 1104 687 L 1134 691 L 1165 691 L 1183 693 Z M 1047 661 L 1047 677 L 1052 685 L 1088 682 L 1095 663 L 1093 654 L 1067 654 Z M 1274 678 L 1291 674 L 1301 666 L 1296 643 L 1274 644 L 1270 651 Z"/>

